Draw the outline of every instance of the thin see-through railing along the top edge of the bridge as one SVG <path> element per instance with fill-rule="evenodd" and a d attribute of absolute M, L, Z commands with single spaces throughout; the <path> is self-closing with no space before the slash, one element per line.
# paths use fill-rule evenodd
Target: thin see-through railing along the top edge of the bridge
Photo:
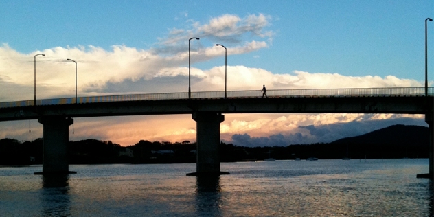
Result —
<path fill-rule="evenodd" d="M 434 87 L 428 88 L 428 94 L 434 95 Z M 424 87 L 380 87 L 353 89 L 280 89 L 268 90 L 269 98 L 295 97 L 378 97 L 378 96 L 424 96 Z M 224 98 L 225 91 L 192 92 L 192 99 Z M 262 91 L 227 91 L 227 98 L 258 98 Z M 182 100 L 188 99 L 188 93 L 144 93 L 131 95 L 102 95 L 77 98 L 78 104 L 95 102 L 126 102 L 142 100 Z M 58 98 L 36 100 L 36 105 L 74 104 L 76 98 Z M 34 100 L 0 102 L 0 108 L 33 106 Z"/>

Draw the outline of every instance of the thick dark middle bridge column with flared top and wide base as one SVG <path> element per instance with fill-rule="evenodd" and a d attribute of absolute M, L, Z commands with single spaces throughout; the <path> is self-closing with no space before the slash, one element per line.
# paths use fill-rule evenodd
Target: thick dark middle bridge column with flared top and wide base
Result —
<path fill-rule="evenodd" d="M 220 175 L 220 123 L 225 116 L 217 113 L 196 112 L 192 119 L 196 121 L 196 172 L 187 176 Z"/>

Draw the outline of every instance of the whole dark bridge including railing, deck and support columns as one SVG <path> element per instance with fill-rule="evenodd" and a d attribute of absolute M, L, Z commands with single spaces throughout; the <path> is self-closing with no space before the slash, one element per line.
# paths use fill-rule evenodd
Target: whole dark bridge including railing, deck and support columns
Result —
<path fill-rule="evenodd" d="M 67 143 L 73 117 L 191 114 L 196 121 L 196 173 L 222 174 L 218 157 L 225 113 L 424 114 L 430 128 L 429 177 L 433 177 L 434 87 L 282 89 L 102 95 L 0 102 L 0 122 L 38 119 L 43 124 L 42 173 L 69 172 Z"/>

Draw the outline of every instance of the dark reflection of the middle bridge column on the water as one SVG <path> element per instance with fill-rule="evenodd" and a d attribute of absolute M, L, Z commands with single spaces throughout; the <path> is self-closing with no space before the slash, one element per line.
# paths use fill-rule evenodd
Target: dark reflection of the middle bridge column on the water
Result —
<path fill-rule="evenodd" d="M 196 176 L 197 216 L 221 216 L 220 176 Z"/>

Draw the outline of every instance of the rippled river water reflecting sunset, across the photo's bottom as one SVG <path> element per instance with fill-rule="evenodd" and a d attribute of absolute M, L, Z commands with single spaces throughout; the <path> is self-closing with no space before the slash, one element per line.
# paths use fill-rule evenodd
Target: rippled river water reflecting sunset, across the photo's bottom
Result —
<path fill-rule="evenodd" d="M 428 159 L 0 168 L 0 216 L 433 216 Z"/>

